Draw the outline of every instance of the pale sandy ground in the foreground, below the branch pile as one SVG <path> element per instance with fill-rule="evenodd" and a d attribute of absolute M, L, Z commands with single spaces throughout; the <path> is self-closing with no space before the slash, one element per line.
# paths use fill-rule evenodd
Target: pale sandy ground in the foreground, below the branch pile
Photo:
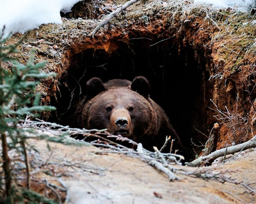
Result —
<path fill-rule="evenodd" d="M 63 145 L 39 140 L 30 140 L 30 143 L 40 152 L 34 154 L 33 162 L 44 163 L 33 177 L 65 183 L 68 188 L 66 201 L 70 204 L 256 203 L 255 193 L 244 185 L 185 175 L 178 175 L 180 181 L 170 182 L 166 175 L 147 163 L 124 154 L 104 153 L 106 149 L 92 146 Z M 47 151 L 47 143 L 50 152 Z M 255 163 L 255 149 L 251 149 L 224 164 L 215 162 L 204 168 L 180 167 L 192 171 L 206 168 L 225 172 L 225 176 L 231 176 L 230 180 L 236 179 L 256 188 Z M 46 169 L 53 172 L 51 177 L 42 173 Z"/>

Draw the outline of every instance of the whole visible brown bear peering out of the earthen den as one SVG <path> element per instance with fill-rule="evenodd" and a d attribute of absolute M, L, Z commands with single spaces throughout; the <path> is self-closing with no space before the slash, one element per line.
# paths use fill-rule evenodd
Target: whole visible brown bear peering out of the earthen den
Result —
<path fill-rule="evenodd" d="M 86 83 L 86 96 L 78 104 L 76 124 L 86 129 L 105 129 L 122 135 L 143 147 L 161 148 L 166 136 L 175 139 L 174 148 L 185 152 L 164 110 L 149 97 L 149 81 L 143 76 L 134 80 L 113 79 L 103 83 L 91 78 Z M 175 150 L 174 149 L 174 150 Z"/>

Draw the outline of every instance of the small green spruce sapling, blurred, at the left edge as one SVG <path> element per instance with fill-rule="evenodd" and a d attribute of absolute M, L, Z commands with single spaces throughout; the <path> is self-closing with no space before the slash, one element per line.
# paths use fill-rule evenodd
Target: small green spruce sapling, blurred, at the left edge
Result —
<path fill-rule="evenodd" d="M 26 165 L 26 188 L 28 189 L 30 185 L 29 161 L 25 147 L 26 136 L 24 130 L 18 129 L 16 124 L 26 116 L 37 117 L 39 112 L 55 110 L 55 107 L 40 105 L 40 93 L 35 93 L 35 87 L 40 83 L 40 79 L 54 77 L 55 74 L 42 71 L 46 61 L 34 63 L 34 50 L 31 50 L 29 60 L 25 65 L 12 58 L 11 54 L 18 52 L 17 47 L 26 38 L 26 35 L 17 44 L 5 46 L 7 38 L 3 38 L 3 31 L 0 36 L 0 138 L 4 179 L 1 175 L 0 187 L 4 182 L 6 195 L 4 202 L 13 203 L 15 196 L 12 187 L 14 179 L 8 155 L 10 148 L 21 150 Z M 10 69 L 3 68 L 3 62 L 11 62 L 12 67 Z"/>

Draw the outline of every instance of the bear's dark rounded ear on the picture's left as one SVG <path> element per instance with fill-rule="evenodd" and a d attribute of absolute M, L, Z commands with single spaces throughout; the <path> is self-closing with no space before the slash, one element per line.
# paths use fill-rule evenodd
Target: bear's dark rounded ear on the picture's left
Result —
<path fill-rule="evenodd" d="M 100 78 L 93 77 L 86 83 L 86 95 L 88 98 L 92 98 L 105 90 L 106 89 Z"/>

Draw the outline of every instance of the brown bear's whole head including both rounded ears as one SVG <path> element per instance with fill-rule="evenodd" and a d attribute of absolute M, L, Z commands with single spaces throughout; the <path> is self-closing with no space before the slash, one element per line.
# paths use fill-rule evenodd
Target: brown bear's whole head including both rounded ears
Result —
<path fill-rule="evenodd" d="M 149 98 L 149 82 L 143 76 L 132 82 L 122 79 L 103 83 L 92 78 L 86 84 L 87 101 L 81 115 L 82 126 L 104 129 L 137 142 L 157 133 L 157 115 Z"/>

